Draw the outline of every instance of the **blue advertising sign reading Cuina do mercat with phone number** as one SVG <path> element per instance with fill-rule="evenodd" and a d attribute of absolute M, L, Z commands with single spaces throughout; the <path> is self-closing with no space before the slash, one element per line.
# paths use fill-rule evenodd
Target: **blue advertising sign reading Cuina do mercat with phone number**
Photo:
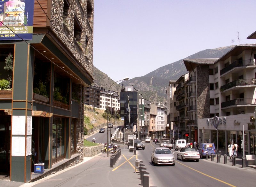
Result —
<path fill-rule="evenodd" d="M 34 0 L 0 1 L 0 40 L 32 40 Z"/>

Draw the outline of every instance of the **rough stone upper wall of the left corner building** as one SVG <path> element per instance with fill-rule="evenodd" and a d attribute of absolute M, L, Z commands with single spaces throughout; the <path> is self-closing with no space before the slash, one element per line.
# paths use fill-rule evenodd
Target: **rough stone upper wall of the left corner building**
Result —
<path fill-rule="evenodd" d="M 52 0 L 51 29 L 85 70 L 92 75 L 94 0 L 69 0 L 68 2 L 70 6 L 64 11 L 63 0 Z M 87 12 L 87 3 L 92 6 L 90 12 Z M 74 34 L 75 19 L 82 28 L 76 36 Z"/>

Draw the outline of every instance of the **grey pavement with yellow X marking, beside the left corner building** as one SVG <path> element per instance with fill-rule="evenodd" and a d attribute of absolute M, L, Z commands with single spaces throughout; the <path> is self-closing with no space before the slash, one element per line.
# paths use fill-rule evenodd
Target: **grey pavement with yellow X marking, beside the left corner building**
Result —
<path fill-rule="evenodd" d="M 135 160 L 138 155 L 129 152 L 128 149 L 121 149 L 121 156 L 117 160 L 113 168 L 110 167 L 110 158 L 113 154 L 100 153 L 92 158 L 84 158 L 82 163 L 74 167 L 67 168 L 35 181 L 33 183 L 10 182 L 9 180 L 0 180 L 0 186 L 5 187 L 31 187 L 31 186 L 58 186 L 59 183 L 65 183 L 65 186 L 79 186 L 78 181 L 86 181 L 90 187 L 104 186 L 120 187 L 136 187 L 141 186 L 140 175 L 135 173 Z M 100 176 L 100 177 L 99 177 Z M 60 179 L 62 179 L 60 181 Z M 129 182 L 124 182 L 127 179 Z M 70 185 L 69 185 L 70 184 Z M 81 183 L 80 183 L 81 184 Z"/>

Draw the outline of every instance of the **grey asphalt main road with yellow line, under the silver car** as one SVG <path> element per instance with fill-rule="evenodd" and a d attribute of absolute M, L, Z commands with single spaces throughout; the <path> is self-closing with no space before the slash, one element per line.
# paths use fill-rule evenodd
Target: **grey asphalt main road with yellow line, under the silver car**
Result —
<path fill-rule="evenodd" d="M 205 159 L 175 160 L 175 166 L 153 166 L 151 152 L 155 145 L 152 141 L 145 143 L 145 150 L 137 150 L 138 159 L 143 160 L 147 172 L 150 173 L 150 186 L 169 187 L 216 187 L 216 186 L 255 186 L 255 172 L 242 168 L 232 168 L 230 165 L 217 164 Z M 173 151 L 173 150 L 172 150 Z M 177 158 L 177 151 L 173 151 Z"/>

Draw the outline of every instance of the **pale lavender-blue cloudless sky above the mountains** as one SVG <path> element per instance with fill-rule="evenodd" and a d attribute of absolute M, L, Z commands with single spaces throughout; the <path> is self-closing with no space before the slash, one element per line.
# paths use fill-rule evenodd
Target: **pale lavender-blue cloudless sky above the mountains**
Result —
<path fill-rule="evenodd" d="M 94 0 L 93 65 L 114 81 L 206 49 L 252 44 L 255 0 Z"/>

